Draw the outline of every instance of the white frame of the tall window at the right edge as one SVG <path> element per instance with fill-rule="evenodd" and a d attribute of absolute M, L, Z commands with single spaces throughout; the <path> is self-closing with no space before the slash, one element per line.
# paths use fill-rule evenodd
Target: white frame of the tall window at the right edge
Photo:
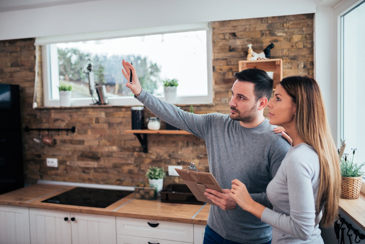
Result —
<path fill-rule="evenodd" d="M 342 107 L 342 98 L 341 98 L 341 91 L 343 89 L 342 84 L 342 22 L 341 17 L 346 14 L 348 11 L 356 7 L 356 5 L 360 4 L 363 0 L 345 0 L 341 1 L 337 5 L 334 6 L 334 27 L 335 27 L 335 47 L 337 47 L 337 63 L 335 64 L 335 67 L 337 67 L 337 135 L 338 135 L 338 141 L 339 138 L 341 138 L 341 126 L 343 125 L 342 122 L 342 113 L 343 110 Z M 362 184 L 361 184 L 361 190 L 362 193 L 365 193 L 365 177 L 362 177 Z"/>

